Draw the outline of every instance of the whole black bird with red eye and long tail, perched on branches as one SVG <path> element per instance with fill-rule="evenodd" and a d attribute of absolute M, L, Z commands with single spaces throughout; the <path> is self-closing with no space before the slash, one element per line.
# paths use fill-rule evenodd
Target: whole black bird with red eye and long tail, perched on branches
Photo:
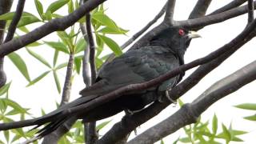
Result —
<path fill-rule="evenodd" d="M 70 118 L 83 118 L 85 122 L 93 122 L 118 114 L 122 110 L 130 111 L 131 113 L 142 110 L 146 105 L 159 99 L 156 95 L 160 95 L 160 97 L 166 95 L 168 97 L 166 91 L 174 87 L 184 74 L 180 74 L 148 90 L 122 95 L 88 112 L 63 116 L 64 111 L 71 107 L 81 106 L 122 86 L 149 81 L 181 66 L 184 64 L 183 57 L 191 38 L 198 37 L 198 34 L 182 27 L 170 27 L 162 30 L 160 34 L 152 38 L 147 46 L 137 50 L 129 50 L 120 57 L 114 58 L 99 72 L 96 83 L 80 92 L 81 98 L 58 108 L 58 110 L 54 110 L 50 114 L 35 118 L 32 122 L 24 122 L 22 126 L 42 126 L 50 122 L 46 127 L 38 131 L 40 136 L 44 136 L 56 130 L 58 126 Z M 13 126 L 11 128 L 22 126 Z"/>

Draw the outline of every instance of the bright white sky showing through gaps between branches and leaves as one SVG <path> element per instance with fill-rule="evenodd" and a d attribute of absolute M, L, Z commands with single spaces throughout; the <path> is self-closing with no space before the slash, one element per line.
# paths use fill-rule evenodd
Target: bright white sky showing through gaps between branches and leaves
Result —
<path fill-rule="evenodd" d="M 14 1 L 14 2 L 17 2 Z M 50 2 L 53 1 L 42 1 L 43 6 L 48 6 Z M 152 18 L 154 18 L 155 14 L 158 14 L 158 11 L 161 10 L 164 5 L 165 0 L 109 0 L 106 2 L 106 14 L 113 18 L 115 22 L 117 22 L 118 26 L 126 30 L 130 30 L 128 36 L 113 36 L 114 40 L 118 42 L 119 45 L 122 45 L 123 42 L 126 42 L 128 38 L 130 38 L 134 33 L 138 30 L 142 29 L 143 26 L 146 25 Z M 186 19 L 190 10 L 192 10 L 194 3 L 196 0 L 177 0 L 177 6 L 175 9 L 174 18 L 176 20 Z M 213 1 L 209 11 L 213 11 L 218 7 L 225 5 L 230 0 L 222 0 L 222 1 Z M 15 5 L 14 5 L 15 6 Z M 13 7 L 12 10 L 15 8 Z M 46 8 L 45 8 L 46 10 Z M 36 9 L 34 7 L 34 1 L 28 0 L 26 1 L 25 11 L 30 12 L 32 14 L 36 14 Z M 62 13 L 62 11 L 60 11 Z M 63 10 L 63 13 L 66 13 Z M 187 50 L 185 55 L 186 62 L 193 61 L 196 58 L 200 58 L 209 54 L 211 51 L 216 50 L 218 47 L 226 44 L 232 38 L 236 36 L 243 28 L 246 26 L 247 18 L 246 16 L 234 18 L 227 22 L 222 22 L 221 24 L 217 24 L 214 26 L 207 26 L 203 30 L 200 30 L 199 33 L 202 35 L 202 38 L 197 38 L 190 44 L 190 48 Z M 159 21 L 161 22 L 161 20 Z M 35 27 L 30 27 L 33 29 Z M 51 34 L 50 37 L 43 38 L 43 40 L 52 40 L 54 34 Z M 231 58 L 229 58 L 226 62 L 224 62 L 221 66 L 219 66 L 216 70 L 211 72 L 199 82 L 197 86 L 195 86 L 190 92 L 185 94 L 182 97 L 184 102 L 192 102 L 194 98 L 197 98 L 199 94 L 202 94 L 207 87 L 212 85 L 214 82 L 219 79 L 226 77 L 226 75 L 238 70 L 242 66 L 252 62 L 255 60 L 255 40 L 247 43 L 242 47 L 242 50 L 238 50 Z M 52 63 L 52 50 L 47 48 L 46 46 L 41 46 L 40 49 L 35 48 L 36 52 L 43 55 L 44 58 L 48 62 Z M 26 59 L 27 66 L 29 68 L 30 77 L 36 78 L 39 74 L 42 74 L 46 70 L 48 70 L 45 66 L 38 63 L 37 60 L 26 54 L 25 50 L 19 50 L 19 54 L 22 54 L 22 58 Z M 62 58 L 62 60 L 67 59 Z M 63 61 L 62 61 L 63 62 Z M 59 62 L 59 63 L 62 63 Z M 26 88 L 27 82 L 25 78 L 18 72 L 18 70 L 13 66 L 13 64 L 6 58 L 5 69 L 8 75 L 8 81 L 12 81 L 12 86 L 10 90 L 10 98 L 15 99 L 22 106 L 30 107 L 31 113 L 34 116 L 41 115 L 40 109 L 43 108 L 47 112 L 54 110 L 55 101 L 60 101 L 60 96 L 56 90 L 54 79 L 52 74 L 43 78 L 41 82 L 38 82 L 35 86 L 30 86 Z M 188 76 L 193 70 L 189 70 L 186 73 Z M 62 78 L 61 82 L 64 81 L 65 78 L 65 70 L 62 70 L 60 73 Z M 247 86 L 244 86 L 238 92 L 234 94 L 230 94 L 227 98 L 222 99 L 221 101 L 211 106 L 209 110 L 207 110 L 204 114 L 202 114 L 202 119 L 205 122 L 208 119 L 213 117 L 213 114 L 218 115 L 219 122 L 223 122 L 226 126 L 229 126 L 230 122 L 233 123 L 233 128 L 236 130 L 247 130 L 250 131 L 250 134 L 246 134 L 241 136 L 245 143 L 254 143 L 255 141 L 255 130 L 256 125 L 255 122 L 249 122 L 243 120 L 242 117 L 251 115 L 252 113 L 246 110 L 238 110 L 234 108 L 234 105 L 238 105 L 244 102 L 256 102 L 254 98 L 254 90 L 255 90 L 255 82 L 250 83 Z M 78 98 L 78 91 L 82 90 L 84 87 L 82 83 L 81 77 L 76 77 L 74 79 L 74 85 L 71 97 L 72 99 Z M 142 131 L 146 130 L 150 126 L 160 122 L 163 118 L 170 116 L 176 110 L 178 110 L 178 106 L 173 107 L 169 106 L 166 110 L 164 110 L 161 114 L 159 114 L 156 118 L 150 120 L 150 122 L 146 122 L 140 128 L 138 128 L 138 134 L 142 133 Z M 114 122 L 118 122 L 122 118 L 122 114 L 118 114 L 117 117 L 112 118 L 113 122 L 111 125 L 107 126 L 104 130 L 102 130 L 101 134 L 104 131 L 108 130 Z M 220 127 L 221 128 L 221 127 Z M 166 143 L 174 142 L 178 138 L 181 133 L 175 133 L 170 135 L 167 138 L 164 138 Z M 235 142 L 234 142 L 235 143 Z"/>

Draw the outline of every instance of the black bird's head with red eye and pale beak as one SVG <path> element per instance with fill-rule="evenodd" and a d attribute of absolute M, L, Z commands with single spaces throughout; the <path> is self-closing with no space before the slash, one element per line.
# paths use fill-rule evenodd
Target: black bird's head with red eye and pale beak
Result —
<path fill-rule="evenodd" d="M 191 39 L 200 37 L 201 36 L 194 31 L 186 30 L 182 27 L 170 27 L 154 36 L 150 44 L 166 46 L 175 53 L 184 54 L 186 48 L 190 45 Z"/>

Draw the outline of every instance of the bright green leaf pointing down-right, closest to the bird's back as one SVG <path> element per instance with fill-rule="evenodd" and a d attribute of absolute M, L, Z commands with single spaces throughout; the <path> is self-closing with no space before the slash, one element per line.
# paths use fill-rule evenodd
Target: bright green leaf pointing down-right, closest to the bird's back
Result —
<path fill-rule="evenodd" d="M 121 48 L 111 38 L 107 38 L 106 36 L 99 35 L 99 34 L 98 34 L 98 37 L 102 38 L 102 41 L 104 41 L 106 43 L 106 45 L 110 47 L 110 49 L 114 52 L 114 54 L 116 54 L 118 56 L 122 54 Z"/>

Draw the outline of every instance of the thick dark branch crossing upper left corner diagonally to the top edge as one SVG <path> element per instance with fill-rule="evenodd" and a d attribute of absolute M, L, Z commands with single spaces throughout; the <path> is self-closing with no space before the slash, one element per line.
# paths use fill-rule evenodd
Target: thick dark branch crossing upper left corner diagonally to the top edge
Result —
<path fill-rule="evenodd" d="M 2 44 L 0 46 L 0 57 L 10 54 L 15 50 L 19 50 L 23 46 L 26 46 L 31 42 L 35 42 L 56 30 L 65 30 L 69 26 L 72 26 L 74 22 L 77 22 L 80 18 L 82 18 L 86 13 L 90 12 L 90 10 L 93 10 L 95 7 L 105 1 L 106 0 L 89 0 L 73 13 L 63 18 L 53 19 L 50 22 L 39 26 L 37 29 L 32 30 L 30 33 L 22 35 L 20 38 L 14 38 L 10 42 Z"/>

